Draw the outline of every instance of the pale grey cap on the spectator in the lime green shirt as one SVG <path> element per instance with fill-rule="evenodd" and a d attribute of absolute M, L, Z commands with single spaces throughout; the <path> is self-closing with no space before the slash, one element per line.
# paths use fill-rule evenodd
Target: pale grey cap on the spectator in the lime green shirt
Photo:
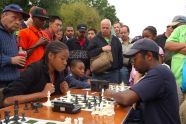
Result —
<path fill-rule="evenodd" d="M 172 23 L 169 26 L 175 26 L 179 23 L 186 23 L 186 16 L 177 15 L 172 19 Z"/>

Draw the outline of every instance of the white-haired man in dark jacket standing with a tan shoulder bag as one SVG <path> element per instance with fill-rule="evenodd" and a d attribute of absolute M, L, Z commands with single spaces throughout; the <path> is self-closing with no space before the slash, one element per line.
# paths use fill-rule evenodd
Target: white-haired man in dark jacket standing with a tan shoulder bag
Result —
<path fill-rule="evenodd" d="M 104 51 L 111 51 L 113 57 L 112 67 L 99 74 L 93 73 L 93 78 L 119 83 L 119 70 L 123 65 L 122 46 L 119 39 L 111 35 L 111 22 L 109 19 L 101 21 L 101 32 L 95 36 L 88 47 L 90 58 L 96 57 Z"/>

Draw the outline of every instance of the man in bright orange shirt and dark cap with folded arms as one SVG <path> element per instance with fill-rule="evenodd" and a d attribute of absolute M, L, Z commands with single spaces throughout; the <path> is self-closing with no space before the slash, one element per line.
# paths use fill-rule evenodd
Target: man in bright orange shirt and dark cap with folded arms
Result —
<path fill-rule="evenodd" d="M 25 67 L 43 57 L 45 45 L 48 43 L 45 34 L 41 32 L 48 19 L 47 11 L 43 8 L 35 7 L 31 14 L 33 24 L 19 32 L 19 46 L 27 51 Z"/>

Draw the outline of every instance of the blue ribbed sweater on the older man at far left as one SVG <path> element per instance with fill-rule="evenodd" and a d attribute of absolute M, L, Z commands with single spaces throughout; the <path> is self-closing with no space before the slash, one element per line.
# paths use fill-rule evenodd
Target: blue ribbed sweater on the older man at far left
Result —
<path fill-rule="evenodd" d="M 16 36 L 0 25 L 0 81 L 12 81 L 20 76 L 16 65 L 11 64 L 11 57 L 17 54 Z"/>

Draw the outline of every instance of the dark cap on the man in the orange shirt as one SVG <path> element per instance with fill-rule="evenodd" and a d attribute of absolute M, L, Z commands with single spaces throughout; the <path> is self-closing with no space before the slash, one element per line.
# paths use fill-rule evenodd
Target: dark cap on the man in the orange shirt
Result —
<path fill-rule="evenodd" d="M 43 8 L 41 8 L 41 7 L 35 7 L 35 8 L 31 11 L 31 15 L 32 15 L 32 17 L 40 17 L 40 18 L 48 19 L 46 9 L 43 9 Z"/>

